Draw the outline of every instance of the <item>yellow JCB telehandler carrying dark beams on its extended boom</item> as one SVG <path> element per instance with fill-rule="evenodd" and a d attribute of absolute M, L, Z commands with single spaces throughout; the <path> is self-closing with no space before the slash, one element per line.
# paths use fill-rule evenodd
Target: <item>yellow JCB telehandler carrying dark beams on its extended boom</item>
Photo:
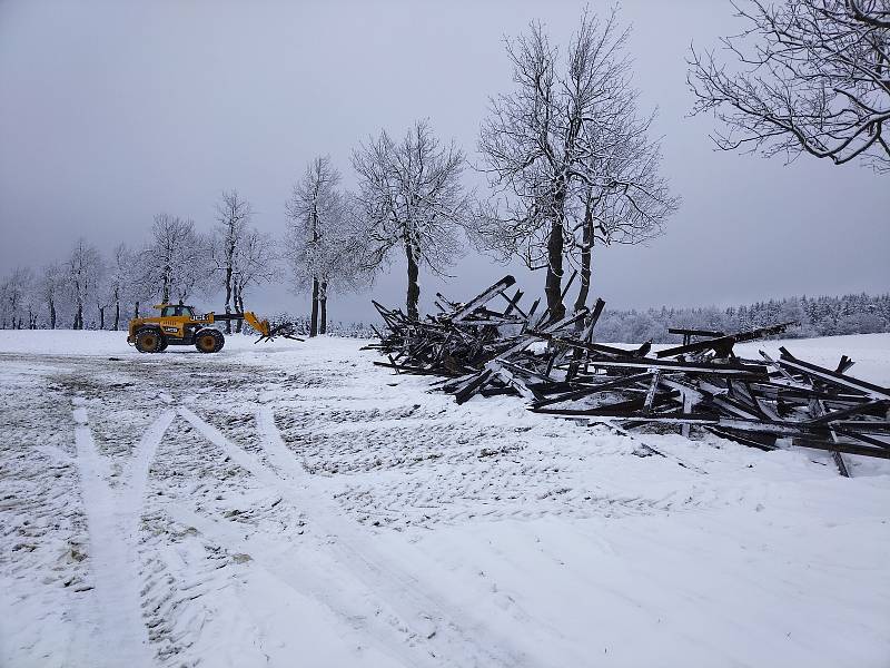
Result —
<path fill-rule="evenodd" d="M 135 345 L 140 353 L 160 353 L 168 345 L 194 345 L 202 353 L 218 353 L 226 343 L 222 332 L 212 327 L 215 323 L 245 320 L 259 332 L 257 341 L 271 341 L 275 336 L 284 336 L 303 341 L 293 335 L 294 325 L 281 323 L 275 327 L 269 321 L 259 320 L 253 311 L 244 313 L 214 312 L 198 315 L 194 306 L 179 304 L 157 304 L 160 310 L 157 317 L 135 317 L 130 321 L 127 343 Z M 256 342 L 254 342 L 256 343 Z"/>

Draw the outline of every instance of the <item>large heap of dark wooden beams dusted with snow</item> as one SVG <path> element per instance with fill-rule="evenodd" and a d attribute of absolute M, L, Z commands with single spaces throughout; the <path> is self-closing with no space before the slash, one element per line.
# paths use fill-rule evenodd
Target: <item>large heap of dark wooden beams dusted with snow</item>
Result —
<path fill-rule="evenodd" d="M 466 303 L 437 295 L 439 313 L 422 321 L 375 302 L 385 327 L 369 347 L 387 358 L 377 364 L 445 376 L 438 385 L 458 403 L 518 394 L 532 411 L 621 430 L 695 426 L 763 450 L 825 450 L 843 475 L 843 453 L 890 459 L 890 389 L 848 375 L 852 360 L 825 369 L 784 347 L 775 360 L 733 352 L 795 323 L 735 334 L 671 330 L 683 344 L 657 351 L 605 345 L 593 337 L 602 299 L 554 320 L 538 313 L 540 301 L 524 310 L 514 283 L 506 276 Z"/>

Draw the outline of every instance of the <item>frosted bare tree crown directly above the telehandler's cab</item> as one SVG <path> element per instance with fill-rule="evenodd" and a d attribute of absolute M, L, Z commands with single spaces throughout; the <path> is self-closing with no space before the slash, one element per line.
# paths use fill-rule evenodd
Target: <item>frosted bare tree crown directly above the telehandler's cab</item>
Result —
<path fill-rule="evenodd" d="M 139 257 L 140 283 L 165 304 L 188 299 L 207 285 L 209 257 L 208 240 L 195 230 L 194 220 L 158 214 L 152 240 Z"/>

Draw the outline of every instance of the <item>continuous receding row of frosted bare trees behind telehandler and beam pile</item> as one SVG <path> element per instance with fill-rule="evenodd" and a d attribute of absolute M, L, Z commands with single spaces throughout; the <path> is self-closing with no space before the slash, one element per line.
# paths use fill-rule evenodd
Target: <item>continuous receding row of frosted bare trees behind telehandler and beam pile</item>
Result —
<path fill-rule="evenodd" d="M 210 286 L 225 291 L 227 311 L 243 308 L 245 291 L 270 281 L 279 258 L 294 286 L 312 293 L 312 333 L 324 333 L 329 296 L 370 284 L 395 258 L 404 257 L 407 313 L 417 317 L 421 272 L 446 275 L 469 242 L 542 269 L 552 317 L 565 313 L 566 265 L 577 266 L 574 307 L 584 308 L 594 246 L 652 238 L 678 207 L 659 173 L 659 144 L 647 137 L 653 117 L 639 111 L 627 36 L 614 12 L 604 20 L 585 13 L 565 53 L 537 23 L 507 42 L 513 89 L 491 100 L 476 165 L 493 197 L 465 186 L 464 153 L 418 120 L 400 139 L 382 131 L 353 151 L 352 191 L 342 189 L 329 157 L 312 160 L 287 202 L 287 234 L 277 247 L 248 229 L 249 203 L 233 191 L 208 236 L 191 220 L 160 215 L 147 247 L 121 247 L 106 263 L 81 243 L 72 258 L 82 263 L 49 267 L 40 281 L 65 277 L 75 327 L 85 326 L 83 310 L 93 303 L 99 326 L 111 306 L 117 327 L 122 303 L 136 310 L 149 296 L 187 299 Z M 26 274 L 18 283 L 28 283 Z M 16 326 L 33 325 L 38 312 L 18 297 L 3 308 Z M 56 316 L 48 320 L 53 326 Z"/>

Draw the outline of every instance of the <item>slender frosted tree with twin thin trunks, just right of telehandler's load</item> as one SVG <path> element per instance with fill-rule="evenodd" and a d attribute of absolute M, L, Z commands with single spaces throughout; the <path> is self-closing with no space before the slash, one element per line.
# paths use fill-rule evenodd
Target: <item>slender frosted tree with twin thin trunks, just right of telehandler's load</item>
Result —
<path fill-rule="evenodd" d="M 354 289 L 359 271 L 359 239 L 350 225 L 350 199 L 339 190 L 340 174 L 330 156 L 309 163 L 287 202 L 286 258 L 294 288 L 312 289 L 309 336 L 327 332 L 330 293 Z"/>

